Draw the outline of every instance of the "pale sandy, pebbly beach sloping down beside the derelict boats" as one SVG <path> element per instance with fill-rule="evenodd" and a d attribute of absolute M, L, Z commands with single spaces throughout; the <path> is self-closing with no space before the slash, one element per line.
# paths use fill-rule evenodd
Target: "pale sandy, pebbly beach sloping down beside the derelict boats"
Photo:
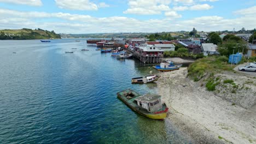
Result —
<path fill-rule="evenodd" d="M 158 92 L 170 107 L 166 121 L 193 143 L 256 143 L 256 105 L 245 109 L 187 78 L 187 68 L 160 73 Z"/>

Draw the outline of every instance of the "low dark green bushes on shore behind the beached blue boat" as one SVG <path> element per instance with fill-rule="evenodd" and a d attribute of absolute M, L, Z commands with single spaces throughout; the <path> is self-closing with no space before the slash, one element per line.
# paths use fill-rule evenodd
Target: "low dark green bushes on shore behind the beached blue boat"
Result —
<path fill-rule="evenodd" d="M 188 49 L 181 47 L 177 51 L 165 51 L 165 57 L 190 57 L 190 58 L 202 58 L 203 53 L 193 54 L 189 53 Z"/>

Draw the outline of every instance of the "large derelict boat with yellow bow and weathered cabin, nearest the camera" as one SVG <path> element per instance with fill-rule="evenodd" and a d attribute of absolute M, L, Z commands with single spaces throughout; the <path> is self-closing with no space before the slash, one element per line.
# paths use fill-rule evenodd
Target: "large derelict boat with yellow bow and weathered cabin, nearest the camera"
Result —
<path fill-rule="evenodd" d="M 165 119 L 168 107 L 161 103 L 161 96 L 156 94 L 141 95 L 132 89 L 117 93 L 118 98 L 140 115 L 152 119 Z"/>

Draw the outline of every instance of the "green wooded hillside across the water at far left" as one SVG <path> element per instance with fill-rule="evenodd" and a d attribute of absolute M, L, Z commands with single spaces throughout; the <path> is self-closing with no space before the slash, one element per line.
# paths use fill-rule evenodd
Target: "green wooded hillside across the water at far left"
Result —
<path fill-rule="evenodd" d="M 34 30 L 28 28 L 0 30 L 0 40 L 6 39 L 61 39 L 61 35 L 40 28 Z"/>

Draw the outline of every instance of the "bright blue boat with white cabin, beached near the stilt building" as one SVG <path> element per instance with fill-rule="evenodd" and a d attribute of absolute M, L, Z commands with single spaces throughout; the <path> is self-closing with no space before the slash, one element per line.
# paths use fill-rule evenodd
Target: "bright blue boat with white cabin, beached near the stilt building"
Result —
<path fill-rule="evenodd" d="M 172 71 L 179 69 L 182 64 L 174 64 L 170 59 L 165 60 L 166 63 L 160 63 L 160 65 L 155 65 L 155 69 L 159 71 Z"/>

